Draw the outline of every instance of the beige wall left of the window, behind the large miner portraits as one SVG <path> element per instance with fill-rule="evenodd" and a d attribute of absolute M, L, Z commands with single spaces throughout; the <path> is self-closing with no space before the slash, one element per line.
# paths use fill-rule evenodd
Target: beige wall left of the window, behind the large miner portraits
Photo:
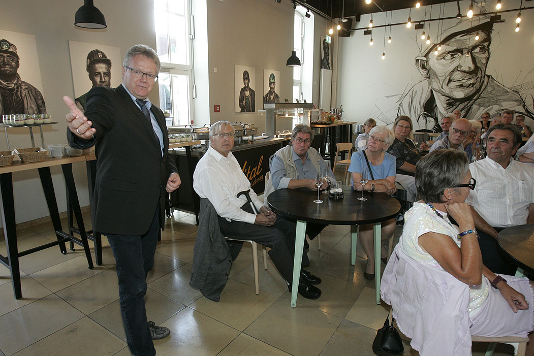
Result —
<path fill-rule="evenodd" d="M 67 143 L 65 106 L 62 96 L 74 95 L 68 41 L 101 43 L 121 49 L 121 56 L 134 44 L 144 43 L 155 46 L 153 5 L 151 1 L 98 1 L 96 6 L 103 12 L 108 25 L 103 30 L 79 29 L 74 26 L 74 14 L 83 1 L 60 0 L 3 0 L 5 11 L 0 29 L 35 36 L 37 56 L 41 68 L 43 96 L 46 109 L 57 125 L 46 126 L 45 144 Z M 6 10 L 7 9 L 7 10 Z M 21 61 L 23 58 L 21 58 Z M 120 70 L 120 66 L 114 66 Z M 23 80 L 24 78 L 22 78 Z M 119 85 L 119 83 L 113 83 Z M 155 95 L 154 95 L 155 94 Z M 158 103 L 158 91 L 150 98 Z M 41 145 L 38 130 L 34 130 L 35 143 Z M 4 133 L 2 135 L 4 137 Z M 28 129 L 9 130 L 12 148 L 29 147 Z M 5 138 L 0 139 L 0 149 L 7 149 Z M 132 153 L 133 154 L 133 153 Z M 89 205 L 85 164 L 73 165 L 77 181 L 77 191 L 81 206 Z M 56 190 L 59 211 L 66 210 L 65 183 L 61 168 L 52 168 L 52 178 Z M 13 173 L 16 222 L 28 221 L 48 216 L 43 189 L 37 170 Z"/>

